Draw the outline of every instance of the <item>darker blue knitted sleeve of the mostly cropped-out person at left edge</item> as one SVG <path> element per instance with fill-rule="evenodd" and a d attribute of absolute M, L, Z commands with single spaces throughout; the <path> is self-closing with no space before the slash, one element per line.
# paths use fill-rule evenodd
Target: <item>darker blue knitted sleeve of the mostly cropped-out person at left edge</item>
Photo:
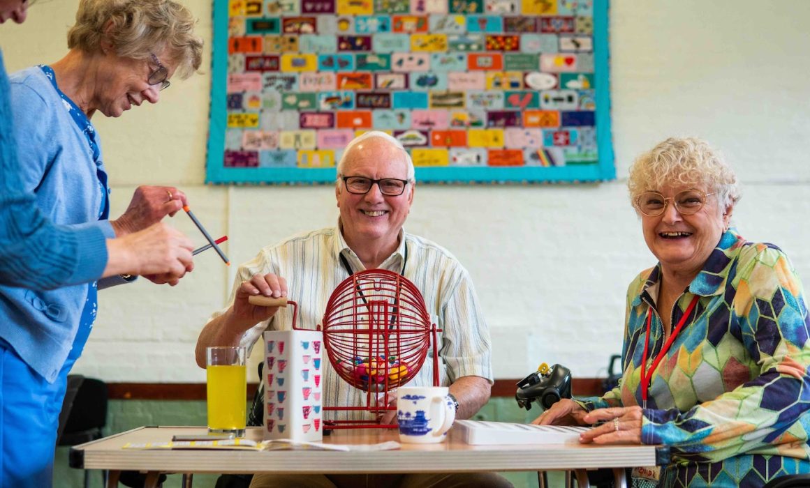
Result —
<path fill-rule="evenodd" d="M 99 278 L 107 265 L 100 228 L 54 226 L 23 188 L 8 94 L 0 51 L 0 283 L 50 289 Z"/>

